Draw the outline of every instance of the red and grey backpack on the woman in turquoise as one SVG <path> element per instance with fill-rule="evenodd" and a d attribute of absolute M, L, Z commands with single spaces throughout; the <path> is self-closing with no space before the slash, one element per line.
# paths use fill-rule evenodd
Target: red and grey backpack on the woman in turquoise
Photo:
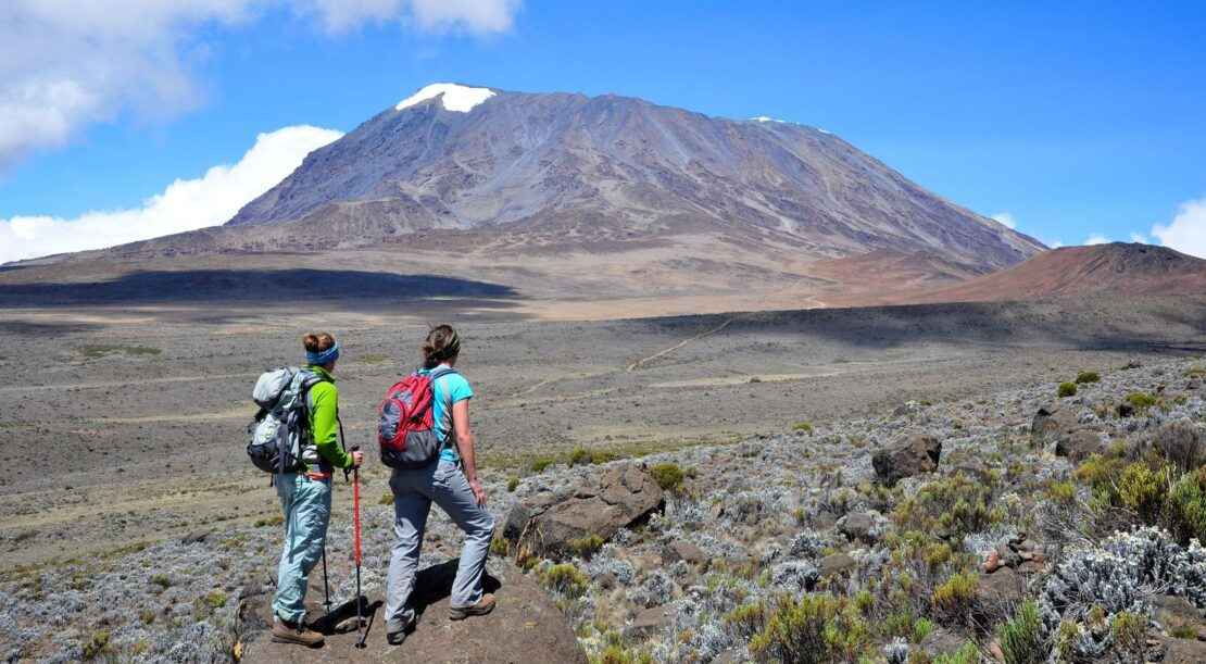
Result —
<path fill-rule="evenodd" d="M 391 468 L 422 468 L 440 455 L 433 423 L 433 384 L 453 369 L 415 372 L 385 392 L 377 406 L 381 462 Z"/>

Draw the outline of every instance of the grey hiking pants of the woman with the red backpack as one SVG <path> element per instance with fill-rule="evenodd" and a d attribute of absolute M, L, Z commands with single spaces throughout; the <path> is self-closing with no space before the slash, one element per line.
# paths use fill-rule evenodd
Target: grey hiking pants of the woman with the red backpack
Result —
<path fill-rule="evenodd" d="M 393 490 L 393 531 L 397 540 L 386 579 L 386 631 L 400 631 L 415 619 L 410 595 L 415 589 L 418 553 L 432 502 L 439 505 L 464 531 L 464 547 L 456 581 L 452 582 L 450 605 L 459 608 L 478 604 L 494 518 L 473 497 L 473 489 L 461 466 L 441 459 L 426 468 L 394 468 L 390 488 Z"/>

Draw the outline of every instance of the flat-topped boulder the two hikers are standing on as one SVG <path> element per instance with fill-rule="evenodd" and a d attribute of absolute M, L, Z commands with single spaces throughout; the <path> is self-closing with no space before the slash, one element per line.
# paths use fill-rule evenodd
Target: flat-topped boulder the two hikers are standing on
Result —
<path fill-rule="evenodd" d="M 415 631 L 400 646 L 385 640 L 385 616 L 381 599 L 370 593 L 362 605 L 369 621 L 364 650 L 355 647 L 356 631 L 336 633 L 334 625 L 351 617 L 355 628 L 356 604 L 336 607 L 329 619 L 316 622 L 327 633 L 321 648 L 271 642 L 267 625 L 271 624 L 271 596 L 260 595 L 256 605 L 240 605 L 258 615 L 256 624 L 236 634 L 235 648 L 242 663 L 258 662 L 508 662 L 560 664 L 586 663 L 586 656 L 564 615 L 548 594 L 519 569 L 502 567 L 499 577 L 486 577 L 486 588 L 498 605 L 488 616 L 449 621 L 449 593 L 456 576 L 456 560 L 434 565 L 418 573 L 415 605 L 420 612 Z M 315 575 L 317 576 L 317 575 Z M 310 593 L 310 617 L 323 615 L 318 602 L 322 593 Z"/>

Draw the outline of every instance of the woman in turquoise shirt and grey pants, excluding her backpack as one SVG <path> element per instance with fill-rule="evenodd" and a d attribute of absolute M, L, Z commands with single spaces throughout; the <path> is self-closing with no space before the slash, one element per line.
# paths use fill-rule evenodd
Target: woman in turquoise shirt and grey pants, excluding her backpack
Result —
<path fill-rule="evenodd" d="M 478 478 L 469 429 L 473 388 L 453 371 L 459 353 L 461 339 L 452 327 L 440 325 L 427 334 L 423 365 L 417 373 L 432 377 L 432 430 L 439 454 L 423 467 L 394 467 L 390 477 L 397 541 L 390 557 L 385 616 L 386 639 L 392 645 L 402 643 L 415 627 L 410 599 L 432 502 L 464 531 L 449 618 L 484 616 L 494 608 L 494 596 L 482 590 L 494 518 L 485 507 L 486 491 Z"/>

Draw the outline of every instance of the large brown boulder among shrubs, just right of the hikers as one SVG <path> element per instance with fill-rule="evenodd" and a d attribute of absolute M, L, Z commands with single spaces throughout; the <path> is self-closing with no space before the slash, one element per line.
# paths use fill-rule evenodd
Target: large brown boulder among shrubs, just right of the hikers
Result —
<path fill-rule="evenodd" d="M 665 506 L 662 489 L 638 464 L 611 466 L 572 496 L 549 493 L 521 501 L 507 516 L 503 536 L 511 551 L 527 547 L 544 557 L 572 553 L 573 543 L 592 536 L 610 540 L 621 528 L 643 523 Z"/>

